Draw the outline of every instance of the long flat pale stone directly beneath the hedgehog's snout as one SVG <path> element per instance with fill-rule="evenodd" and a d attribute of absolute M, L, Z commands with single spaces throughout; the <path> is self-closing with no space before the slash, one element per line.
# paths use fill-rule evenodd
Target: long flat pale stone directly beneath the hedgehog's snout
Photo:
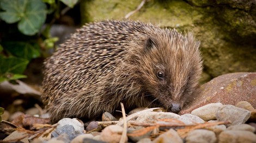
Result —
<path fill-rule="evenodd" d="M 157 119 L 178 119 L 180 115 L 170 112 L 149 112 L 147 114 L 139 115 L 136 121 L 157 121 Z"/>

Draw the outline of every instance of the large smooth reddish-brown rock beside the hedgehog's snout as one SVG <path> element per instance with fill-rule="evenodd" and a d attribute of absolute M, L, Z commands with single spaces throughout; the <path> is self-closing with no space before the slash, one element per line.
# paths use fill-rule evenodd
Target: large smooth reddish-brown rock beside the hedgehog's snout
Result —
<path fill-rule="evenodd" d="M 192 95 L 192 102 L 180 114 L 190 113 L 209 103 L 236 105 L 247 101 L 256 107 L 256 73 L 231 73 L 218 76 L 200 86 Z"/>

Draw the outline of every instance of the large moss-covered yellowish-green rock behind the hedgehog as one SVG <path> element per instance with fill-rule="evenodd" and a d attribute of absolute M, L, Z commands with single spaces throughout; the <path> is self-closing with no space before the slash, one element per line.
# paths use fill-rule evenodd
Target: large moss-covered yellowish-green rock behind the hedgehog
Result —
<path fill-rule="evenodd" d="M 82 21 L 124 19 L 141 1 L 81 1 Z M 256 71 L 256 1 L 149 1 L 129 19 L 179 31 L 201 41 L 202 81 L 226 73 Z"/>

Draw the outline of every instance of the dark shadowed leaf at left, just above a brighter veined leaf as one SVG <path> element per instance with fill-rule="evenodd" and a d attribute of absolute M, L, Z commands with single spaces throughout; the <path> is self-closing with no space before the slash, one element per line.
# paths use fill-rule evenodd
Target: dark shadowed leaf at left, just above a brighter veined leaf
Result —
<path fill-rule="evenodd" d="M 27 42 L 4 42 L 4 49 L 14 56 L 22 57 L 23 59 L 31 60 L 41 55 L 38 44 Z"/>

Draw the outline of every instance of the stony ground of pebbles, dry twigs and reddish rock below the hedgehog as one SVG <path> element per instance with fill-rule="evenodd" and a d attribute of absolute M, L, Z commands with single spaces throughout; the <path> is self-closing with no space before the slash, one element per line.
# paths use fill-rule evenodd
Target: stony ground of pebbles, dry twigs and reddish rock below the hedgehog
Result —
<path fill-rule="evenodd" d="M 2 142 L 256 142 L 256 73 L 216 77 L 193 98 L 180 115 L 134 109 L 120 119 L 106 112 L 86 123 L 64 118 L 47 124 L 38 106 L 25 114 L 5 111 L 0 133 Z"/>

